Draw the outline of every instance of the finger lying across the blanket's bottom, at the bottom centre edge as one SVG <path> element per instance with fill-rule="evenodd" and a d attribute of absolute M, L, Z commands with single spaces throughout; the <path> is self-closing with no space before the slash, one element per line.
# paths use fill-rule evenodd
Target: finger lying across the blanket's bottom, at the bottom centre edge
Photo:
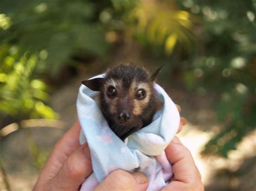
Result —
<path fill-rule="evenodd" d="M 146 190 L 149 186 L 147 176 L 142 173 L 129 173 L 118 169 L 110 173 L 96 188 L 100 190 Z"/>

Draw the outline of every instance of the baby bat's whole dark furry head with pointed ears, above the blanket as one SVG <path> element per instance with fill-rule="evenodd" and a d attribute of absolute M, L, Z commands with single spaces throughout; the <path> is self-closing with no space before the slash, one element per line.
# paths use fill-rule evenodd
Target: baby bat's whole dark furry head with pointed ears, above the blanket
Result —
<path fill-rule="evenodd" d="M 150 75 L 145 68 L 125 63 L 107 70 L 104 78 L 82 82 L 91 90 L 99 91 L 96 102 L 120 139 L 152 122 L 158 108 L 153 84 L 160 69 Z"/>

